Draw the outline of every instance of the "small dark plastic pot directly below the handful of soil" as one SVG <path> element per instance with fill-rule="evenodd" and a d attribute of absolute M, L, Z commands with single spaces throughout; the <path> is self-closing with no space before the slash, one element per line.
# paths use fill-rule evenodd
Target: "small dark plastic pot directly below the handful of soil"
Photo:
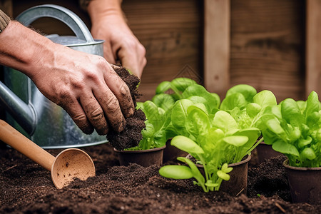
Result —
<path fill-rule="evenodd" d="M 141 151 L 118 151 L 114 148 L 114 151 L 118 153 L 119 163 L 121 165 L 137 163 L 143 167 L 148 167 L 154 164 L 162 165 L 165 147 L 166 146 Z"/>

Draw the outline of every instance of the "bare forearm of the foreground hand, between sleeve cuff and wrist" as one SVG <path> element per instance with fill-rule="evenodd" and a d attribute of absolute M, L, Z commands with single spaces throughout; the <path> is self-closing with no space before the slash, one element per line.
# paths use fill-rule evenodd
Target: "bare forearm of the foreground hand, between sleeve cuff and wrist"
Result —
<path fill-rule="evenodd" d="M 26 28 L 17 21 L 10 21 L 0 34 L 0 64 L 15 68 L 31 77 L 41 58 L 54 53 L 54 43 Z"/>

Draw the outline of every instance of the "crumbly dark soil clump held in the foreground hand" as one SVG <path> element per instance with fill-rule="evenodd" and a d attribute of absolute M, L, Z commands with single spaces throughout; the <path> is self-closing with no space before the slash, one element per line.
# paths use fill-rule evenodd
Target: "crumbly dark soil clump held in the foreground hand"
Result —
<path fill-rule="evenodd" d="M 136 99 L 141 96 L 138 92 L 137 86 L 139 83 L 139 78 L 137 76 L 131 75 L 126 68 L 121 66 L 114 67 L 116 73 L 123 79 L 127 84 L 129 90 L 131 91 L 131 97 L 133 98 L 134 105 L 136 107 Z M 136 109 L 133 116 L 126 118 L 126 126 L 121 133 L 114 131 L 113 128 L 110 129 L 107 135 L 107 139 L 113 148 L 121 151 L 125 148 L 131 148 L 138 146 L 143 136 L 141 131 L 145 128 L 146 116 L 141 111 L 141 109 Z"/>

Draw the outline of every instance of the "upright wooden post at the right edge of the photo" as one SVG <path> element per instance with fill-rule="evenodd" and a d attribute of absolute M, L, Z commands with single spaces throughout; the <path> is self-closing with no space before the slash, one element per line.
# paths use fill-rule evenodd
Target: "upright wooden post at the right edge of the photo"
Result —
<path fill-rule="evenodd" d="M 321 94 L 321 1 L 307 0 L 307 43 L 305 96 Z"/>

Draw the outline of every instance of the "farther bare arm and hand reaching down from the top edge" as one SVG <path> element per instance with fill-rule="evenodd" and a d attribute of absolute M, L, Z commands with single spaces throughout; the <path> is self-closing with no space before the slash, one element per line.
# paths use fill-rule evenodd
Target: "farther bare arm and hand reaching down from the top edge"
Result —
<path fill-rule="evenodd" d="M 92 0 L 87 10 L 93 38 L 105 40 L 103 49 L 107 61 L 116 63 L 120 60 L 122 66 L 141 78 L 146 66 L 146 50 L 126 24 L 121 1 Z"/>

